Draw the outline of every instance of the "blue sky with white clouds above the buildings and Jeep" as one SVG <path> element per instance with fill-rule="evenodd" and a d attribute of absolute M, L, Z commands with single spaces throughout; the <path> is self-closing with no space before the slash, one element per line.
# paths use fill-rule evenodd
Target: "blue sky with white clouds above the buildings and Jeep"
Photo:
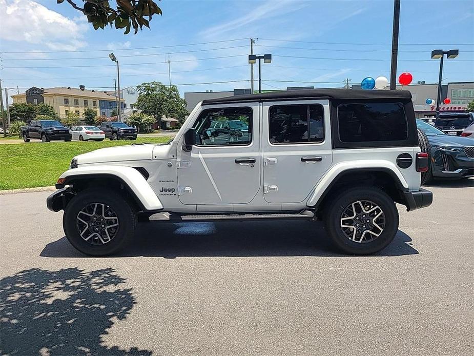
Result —
<path fill-rule="evenodd" d="M 120 60 L 122 87 L 168 84 L 168 65 L 160 62 L 170 57 L 172 83 L 179 84 L 181 94 L 248 88 L 250 37 L 258 38 L 255 53 L 273 54 L 272 63 L 262 65 L 262 89 L 338 87 L 345 78 L 360 83 L 365 76 L 389 76 L 392 0 L 158 4 L 163 15 L 153 18 L 151 30 L 123 35 L 115 29 L 94 31 L 67 3 L 0 0 L 2 85 L 15 91 L 19 86 L 20 92 L 31 86 L 80 84 L 111 90 L 116 68 L 107 55 L 113 50 Z M 445 62 L 445 82 L 474 81 L 474 2 L 402 0 L 400 44 L 398 73 L 411 72 L 414 82 L 438 80 L 439 61 L 430 60 L 430 51 L 437 48 L 460 50 L 458 58 Z M 166 47 L 174 45 L 186 46 Z M 143 47 L 156 48 L 138 49 Z M 166 54 L 170 52 L 181 53 Z M 94 67 L 26 68 L 59 66 Z M 226 81 L 240 82 L 182 85 Z"/>

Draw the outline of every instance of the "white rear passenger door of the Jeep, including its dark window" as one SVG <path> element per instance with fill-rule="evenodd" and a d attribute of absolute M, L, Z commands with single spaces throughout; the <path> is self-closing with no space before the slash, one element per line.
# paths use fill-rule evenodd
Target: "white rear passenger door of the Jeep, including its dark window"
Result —
<path fill-rule="evenodd" d="M 331 167 L 327 100 L 263 103 L 263 188 L 269 203 L 300 203 Z"/>

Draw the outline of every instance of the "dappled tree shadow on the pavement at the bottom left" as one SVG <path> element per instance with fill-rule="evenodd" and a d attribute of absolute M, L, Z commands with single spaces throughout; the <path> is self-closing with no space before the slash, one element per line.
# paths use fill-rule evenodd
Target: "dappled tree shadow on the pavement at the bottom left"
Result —
<path fill-rule="evenodd" d="M 0 280 L 0 354 L 150 355 L 101 345 L 136 303 L 112 268 L 24 270 Z"/>

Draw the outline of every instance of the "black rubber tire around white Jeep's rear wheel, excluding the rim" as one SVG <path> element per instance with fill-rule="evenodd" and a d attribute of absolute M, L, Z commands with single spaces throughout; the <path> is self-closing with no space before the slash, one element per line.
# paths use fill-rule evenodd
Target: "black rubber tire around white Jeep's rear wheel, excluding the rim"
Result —
<path fill-rule="evenodd" d="M 384 213 L 385 226 L 373 241 L 359 243 L 349 239 L 341 227 L 342 213 L 347 206 L 357 201 L 371 201 Z M 393 199 L 376 187 L 346 189 L 331 199 L 325 212 L 326 232 L 335 247 L 347 254 L 366 255 L 376 253 L 390 244 L 398 231 L 399 216 Z"/>

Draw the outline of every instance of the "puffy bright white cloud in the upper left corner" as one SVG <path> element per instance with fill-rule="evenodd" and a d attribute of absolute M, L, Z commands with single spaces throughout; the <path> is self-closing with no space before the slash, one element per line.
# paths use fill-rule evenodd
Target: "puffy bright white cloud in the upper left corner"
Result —
<path fill-rule="evenodd" d="M 85 17 L 73 19 L 30 0 L 0 0 L 0 38 L 15 42 L 46 45 L 52 50 L 85 47 Z"/>

